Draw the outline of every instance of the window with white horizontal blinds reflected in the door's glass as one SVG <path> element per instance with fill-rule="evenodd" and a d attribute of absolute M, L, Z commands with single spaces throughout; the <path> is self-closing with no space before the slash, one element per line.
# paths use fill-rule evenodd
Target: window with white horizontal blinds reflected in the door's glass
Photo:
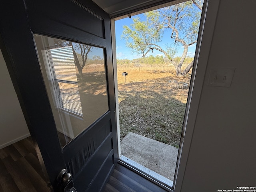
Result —
<path fill-rule="evenodd" d="M 42 53 L 54 105 L 83 116 L 72 46 L 42 50 Z"/>

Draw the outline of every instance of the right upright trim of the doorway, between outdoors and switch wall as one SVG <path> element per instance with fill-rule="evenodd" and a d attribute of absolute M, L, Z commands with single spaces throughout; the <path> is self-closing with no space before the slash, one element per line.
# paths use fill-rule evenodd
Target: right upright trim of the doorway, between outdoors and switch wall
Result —
<path fill-rule="evenodd" d="M 205 0 L 204 2 L 204 11 L 202 12 L 203 15 L 201 20 L 202 23 L 198 34 L 198 43 L 183 124 L 184 134 L 179 148 L 178 163 L 174 177 L 174 192 L 182 191 L 182 183 L 194 133 L 194 125 L 196 123 L 198 106 L 204 84 L 206 66 L 210 55 L 212 38 L 214 36 L 219 2 L 220 0 Z"/>

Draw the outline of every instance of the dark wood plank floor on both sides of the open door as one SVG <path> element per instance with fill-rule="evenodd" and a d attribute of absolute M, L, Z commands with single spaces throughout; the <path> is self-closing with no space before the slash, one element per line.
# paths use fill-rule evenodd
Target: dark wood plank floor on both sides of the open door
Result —
<path fill-rule="evenodd" d="M 30 137 L 0 149 L 0 192 L 50 192 Z M 103 192 L 166 192 L 117 164 Z"/>

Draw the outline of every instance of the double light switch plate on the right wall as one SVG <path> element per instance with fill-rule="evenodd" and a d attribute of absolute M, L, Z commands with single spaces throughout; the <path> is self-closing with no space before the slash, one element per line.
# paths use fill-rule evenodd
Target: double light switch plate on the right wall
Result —
<path fill-rule="evenodd" d="M 212 68 L 208 86 L 230 87 L 235 68 Z"/>

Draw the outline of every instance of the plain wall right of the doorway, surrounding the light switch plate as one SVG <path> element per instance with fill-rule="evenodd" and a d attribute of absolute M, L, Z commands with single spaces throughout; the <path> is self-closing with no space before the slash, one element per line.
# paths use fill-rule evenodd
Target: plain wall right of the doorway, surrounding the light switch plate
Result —
<path fill-rule="evenodd" d="M 182 192 L 256 185 L 255 8 L 220 0 Z M 236 68 L 231 87 L 207 86 L 214 67 Z"/>

